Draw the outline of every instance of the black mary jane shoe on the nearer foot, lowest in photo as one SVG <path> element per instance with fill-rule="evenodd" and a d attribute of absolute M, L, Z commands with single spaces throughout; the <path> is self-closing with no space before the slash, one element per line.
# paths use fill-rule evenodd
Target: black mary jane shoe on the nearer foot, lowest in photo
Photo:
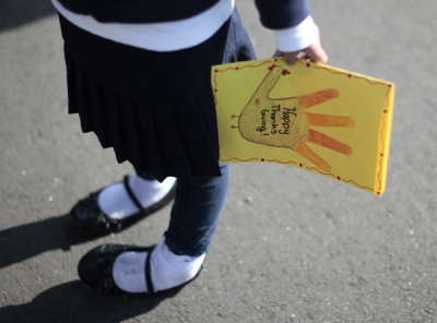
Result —
<path fill-rule="evenodd" d="M 135 247 L 135 246 L 110 244 L 110 243 L 98 246 L 88 251 L 80 260 L 78 265 L 79 277 L 81 277 L 82 282 L 95 288 L 98 292 L 105 292 L 105 294 L 127 292 L 123 291 L 121 288 L 119 288 L 113 278 L 114 262 L 119 254 L 126 251 L 149 252 L 147 258 L 145 260 L 145 282 L 149 291 L 144 294 L 156 295 L 164 291 L 177 290 L 187 285 L 188 283 L 194 280 L 199 276 L 201 270 L 199 270 L 198 274 L 192 279 L 186 283 L 182 283 L 169 289 L 155 290 L 151 276 L 151 255 L 155 247 L 156 246 Z"/>

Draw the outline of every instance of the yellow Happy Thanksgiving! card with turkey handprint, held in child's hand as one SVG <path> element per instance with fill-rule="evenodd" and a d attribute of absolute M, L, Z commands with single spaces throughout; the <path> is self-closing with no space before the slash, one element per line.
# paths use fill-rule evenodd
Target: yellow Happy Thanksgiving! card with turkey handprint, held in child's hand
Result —
<path fill-rule="evenodd" d="M 381 195 L 394 84 L 283 58 L 212 68 L 220 162 L 291 165 Z"/>

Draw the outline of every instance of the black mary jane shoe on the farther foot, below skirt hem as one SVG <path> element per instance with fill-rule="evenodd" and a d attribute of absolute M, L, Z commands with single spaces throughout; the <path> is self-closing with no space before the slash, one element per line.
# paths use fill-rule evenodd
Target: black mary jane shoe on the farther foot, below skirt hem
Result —
<path fill-rule="evenodd" d="M 129 198 L 137 205 L 140 212 L 122 219 L 110 218 L 98 206 L 98 194 L 102 191 L 99 190 L 91 193 L 86 199 L 79 201 L 73 206 L 69 214 L 70 223 L 72 224 L 73 228 L 81 235 L 87 237 L 101 237 L 111 232 L 120 231 L 165 206 L 175 198 L 176 184 L 162 200 L 144 208 L 129 186 L 129 176 L 125 176 L 123 184 Z"/>

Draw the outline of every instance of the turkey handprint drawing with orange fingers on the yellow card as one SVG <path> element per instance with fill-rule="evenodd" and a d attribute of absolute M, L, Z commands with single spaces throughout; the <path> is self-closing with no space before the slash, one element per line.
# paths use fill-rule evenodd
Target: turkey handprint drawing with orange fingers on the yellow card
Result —
<path fill-rule="evenodd" d="M 339 91 L 328 88 L 297 97 L 271 98 L 270 92 L 281 74 L 290 72 L 273 67 L 241 111 L 238 130 L 250 142 L 275 147 L 287 147 L 310 160 L 322 170 L 331 166 L 317 155 L 307 143 L 351 155 L 351 146 L 318 132 L 310 125 L 354 127 L 351 117 L 309 113 L 305 109 L 338 97 Z"/>

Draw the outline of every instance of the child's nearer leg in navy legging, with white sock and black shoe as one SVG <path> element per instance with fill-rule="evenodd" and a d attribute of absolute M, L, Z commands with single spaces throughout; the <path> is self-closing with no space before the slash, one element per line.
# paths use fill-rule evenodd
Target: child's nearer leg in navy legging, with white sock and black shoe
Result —
<path fill-rule="evenodd" d="M 226 198 L 229 166 L 221 165 L 221 169 L 222 177 L 197 178 L 189 183 L 178 181 L 166 237 L 152 252 L 150 265 L 146 265 L 149 250 L 116 247 L 117 251 L 113 247 L 101 246 L 81 260 L 81 278 L 92 286 L 102 286 L 98 282 L 109 268 L 109 272 L 113 271 L 109 278 L 128 292 L 150 291 L 147 275 L 155 290 L 176 287 L 194 278 L 202 266 Z M 97 263 L 107 263 L 108 267 L 98 267 Z M 114 291 L 113 288 L 102 290 Z"/>

